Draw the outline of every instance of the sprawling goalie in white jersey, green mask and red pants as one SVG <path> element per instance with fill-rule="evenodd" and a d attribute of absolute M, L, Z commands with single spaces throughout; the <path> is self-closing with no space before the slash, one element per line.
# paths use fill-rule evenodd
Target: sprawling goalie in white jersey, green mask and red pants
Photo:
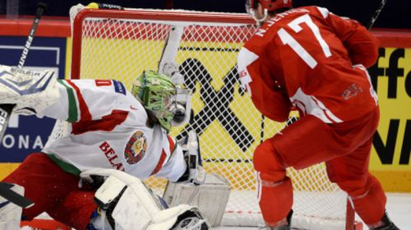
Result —
<path fill-rule="evenodd" d="M 35 204 L 22 213 L 0 198 L 1 230 L 20 229 L 21 216 L 31 220 L 43 212 L 79 230 L 208 229 L 196 207 L 163 212 L 141 182 L 152 175 L 195 179 L 183 148 L 168 133 L 174 121 L 186 120 L 176 111 L 190 103 L 190 91 L 169 76 L 144 71 L 127 91 L 115 80 L 57 80 L 53 71 L 0 65 L 0 85 L 0 101 L 17 104 L 14 112 L 68 122 L 61 138 L 4 179 L 24 187 Z"/>

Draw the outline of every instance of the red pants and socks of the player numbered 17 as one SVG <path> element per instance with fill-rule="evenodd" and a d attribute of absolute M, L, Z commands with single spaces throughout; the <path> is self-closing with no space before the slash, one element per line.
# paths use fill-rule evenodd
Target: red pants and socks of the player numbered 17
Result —
<path fill-rule="evenodd" d="M 291 209 L 292 184 L 286 168 L 301 169 L 320 162 L 326 162 L 329 179 L 347 191 L 366 224 L 381 220 L 386 197 L 379 181 L 368 172 L 378 121 L 378 108 L 339 124 L 325 124 L 309 115 L 261 143 L 253 162 L 259 176 L 259 205 L 264 220 L 275 224 Z"/>

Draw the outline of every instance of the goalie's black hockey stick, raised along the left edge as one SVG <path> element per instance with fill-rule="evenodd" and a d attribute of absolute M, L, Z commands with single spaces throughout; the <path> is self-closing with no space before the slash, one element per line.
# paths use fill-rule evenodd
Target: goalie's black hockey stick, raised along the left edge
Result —
<path fill-rule="evenodd" d="M 22 69 L 24 63 L 26 62 L 27 54 L 29 52 L 31 43 L 34 39 L 34 34 L 37 30 L 37 27 L 40 23 L 40 18 L 43 15 L 44 11 L 46 10 L 46 6 L 40 3 L 37 7 L 36 14 L 34 16 L 33 25 L 31 26 L 30 33 L 27 37 L 26 44 L 23 48 L 22 55 L 20 56 L 20 61 L 18 61 L 17 67 Z M 4 133 L 6 132 L 7 125 L 9 123 L 9 119 L 11 116 L 11 112 L 13 111 L 15 104 L 0 104 L 0 141 L 3 140 Z M 0 182 L 0 196 L 4 197 L 5 199 L 9 200 L 10 202 L 23 207 L 28 208 L 34 203 L 29 199 L 17 194 L 15 191 L 11 190 L 11 185 L 8 183 Z"/>

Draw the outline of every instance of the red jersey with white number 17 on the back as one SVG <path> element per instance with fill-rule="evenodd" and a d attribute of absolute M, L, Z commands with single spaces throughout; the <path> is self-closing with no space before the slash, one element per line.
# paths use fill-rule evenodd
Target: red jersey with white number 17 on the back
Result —
<path fill-rule="evenodd" d="M 292 106 L 325 123 L 353 120 L 377 106 L 365 67 L 377 39 L 354 20 L 321 7 L 276 14 L 238 54 L 241 86 L 256 108 L 286 121 Z"/>

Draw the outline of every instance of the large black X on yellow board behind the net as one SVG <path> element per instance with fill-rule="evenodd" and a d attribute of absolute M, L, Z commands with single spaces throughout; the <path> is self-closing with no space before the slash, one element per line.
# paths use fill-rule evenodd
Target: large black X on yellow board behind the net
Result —
<path fill-rule="evenodd" d="M 250 131 L 240 122 L 233 111 L 229 108 L 234 98 L 234 85 L 238 83 L 238 72 L 235 66 L 223 78 L 224 86 L 220 90 L 215 90 L 210 84 L 213 80 L 211 74 L 196 59 L 187 59 L 180 65 L 180 73 L 184 75 L 185 86 L 190 88 L 193 93 L 198 90 L 196 83 L 201 87 L 200 98 L 205 106 L 194 116 L 190 126 L 198 135 L 207 129 L 214 121 L 218 120 L 226 129 L 230 137 L 241 148 L 246 151 L 255 141 Z M 186 130 L 177 137 L 180 140 L 186 135 Z"/>

